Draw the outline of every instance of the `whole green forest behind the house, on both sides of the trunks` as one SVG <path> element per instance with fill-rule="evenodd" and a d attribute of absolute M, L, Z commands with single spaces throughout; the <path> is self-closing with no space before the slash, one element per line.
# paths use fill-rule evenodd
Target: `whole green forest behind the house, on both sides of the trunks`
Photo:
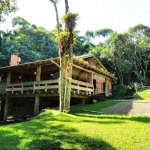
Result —
<path fill-rule="evenodd" d="M 20 63 L 58 57 L 57 29 L 47 31 L 21 17 L 12 20 L 13 31 L 0 30 L 0 67 L 8 66 L 11 54 L 18 54 Z M 61 30 L 60 24 L 60 30 Z M 92 53 L 114 74 L 118 84 L 149 84 L 150 28 L 138 24 L 126 33 L 111 29 L 75 31 L 75 56 Z M 96 41 L 96 42 L 95 42 Z"/>

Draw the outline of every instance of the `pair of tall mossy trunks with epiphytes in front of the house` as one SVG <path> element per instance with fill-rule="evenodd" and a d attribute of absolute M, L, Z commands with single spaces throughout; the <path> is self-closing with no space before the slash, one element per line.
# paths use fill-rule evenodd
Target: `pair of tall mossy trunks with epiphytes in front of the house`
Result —
<path fill-rule="evenodd" d="M 56 14 L 56 1 L 53 2 Z M 59 57 L 60 57 L 60 81 L 59 81 L 59 91 L 60 91 L 60 111 L 68 111 L 70 109 L 70 93 L 71 93 L 71 79 L 72 79 L 72 61 L 73 61 L 73 45 L 75 44 L 76 36 L 73 32 L 75 28 L 75 21 L 78 17 L 76 13 L 69 13 L 68 0 L 65 0 L 65 15 L 62 18 L 65 23 L 64 31 L 59 32 L 58 29 L 58 47 L 59 47 Z M 56 18 L 57 15 L 56 15 Z M 57 26 L 59 26 L 59 21 L 57 21 Z M 67 57 L 68 54 L 68 57 Z"/>

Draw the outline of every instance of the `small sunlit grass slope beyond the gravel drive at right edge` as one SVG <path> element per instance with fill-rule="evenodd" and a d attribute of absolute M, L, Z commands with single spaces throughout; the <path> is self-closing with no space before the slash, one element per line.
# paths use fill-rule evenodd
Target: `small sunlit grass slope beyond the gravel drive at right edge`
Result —
<path fill-rule="evenodd" d="M 134 99 L 150 100 L 150 88 L 145 88 L 143 91 L 136 93 Z"/>

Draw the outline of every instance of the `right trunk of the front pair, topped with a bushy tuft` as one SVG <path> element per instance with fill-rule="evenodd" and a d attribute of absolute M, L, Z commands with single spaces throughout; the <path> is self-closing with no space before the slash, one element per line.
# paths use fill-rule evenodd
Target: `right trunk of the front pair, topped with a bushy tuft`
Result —
<path fill-rule="evenodd" d="M 76 26 L 76 21 L 78 20 L 78 14 L 77 13 L 71 13 L 67 12 L 63 18 L 62 21 L 65 23 L 65 32 L 67 32 L 68 39 L 65 44 L 65 53 L 68 54 L 68 61 L 63 59 L 65 62 L 64 66 L 64 75 L 65 75 L 65 80 L 64 80 L 64 87 L 63 88 L 63 94 L 64 94 L 64 106 L 63 106 L 63 111 L 68 112 L 70 110 L 70 97 L 71 97 L 71 80 L 72 80 L 72 64 L 73 64 L 73 46 L 75 45 L 76 41 L 76 35 L 73 32 L 74 28 Z M 64 56 L 65 57 L 65 56 Z M 61 99 L 62 101 L 62 99 Z"/>

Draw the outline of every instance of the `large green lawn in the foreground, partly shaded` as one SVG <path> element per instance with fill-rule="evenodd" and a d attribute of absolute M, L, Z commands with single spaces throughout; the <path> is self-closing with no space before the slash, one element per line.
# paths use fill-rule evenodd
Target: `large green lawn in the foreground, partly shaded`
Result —
<path fill-rule="evenodd" d="M 31 121 L 0 126 L 0 150 L 150 150 L 150 117 L 83 111 L 116 103 L 77 105 L 69 114 L 46 110 Z"/>

